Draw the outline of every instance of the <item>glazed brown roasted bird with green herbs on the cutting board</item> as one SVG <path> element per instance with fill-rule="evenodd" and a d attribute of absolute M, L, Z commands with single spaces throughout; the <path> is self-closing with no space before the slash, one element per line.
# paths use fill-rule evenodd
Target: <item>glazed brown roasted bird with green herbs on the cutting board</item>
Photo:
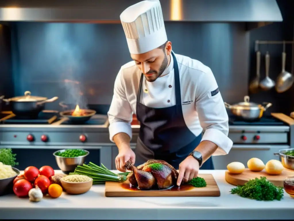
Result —
<path fill-rule="evenodd" d="M 139 166 L 134 166 L 131 160 L 124 165 L 131 170 L 127 178 L 133 186 L 139 189 L 168 189 L 176 185 L 178 171 L 163 160 L 148 160 Z"/>

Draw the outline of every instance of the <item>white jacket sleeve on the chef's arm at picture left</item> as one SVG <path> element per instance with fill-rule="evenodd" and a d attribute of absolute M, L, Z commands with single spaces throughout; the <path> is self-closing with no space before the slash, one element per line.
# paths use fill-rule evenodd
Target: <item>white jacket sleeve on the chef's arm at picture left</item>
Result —
<path fill-rule="evenodd" d="M 133 111 L 126 97 L 125 84 L 122 77 L 122 70 L 119 70 L 114 82 L 113 97 L 108 110 L 109 139 L 113 141 L 113 136 L 118 133 L 126 133 L 132 138 Z"/>

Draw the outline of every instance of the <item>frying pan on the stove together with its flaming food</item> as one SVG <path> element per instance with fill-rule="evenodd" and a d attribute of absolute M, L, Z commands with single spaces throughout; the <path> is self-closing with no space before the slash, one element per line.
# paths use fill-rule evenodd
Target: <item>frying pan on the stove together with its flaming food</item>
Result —
<path fill-rule="evenodd" d="M 66 108 L 67 105 L 60 102 L 59 105 Z M 83 124 L 96 114 L 96 110 L 80 109 L 78 105 L 74 110 L 65 110 L 59 113 L 61 116 L 68 118 L 71 124 Z"/>

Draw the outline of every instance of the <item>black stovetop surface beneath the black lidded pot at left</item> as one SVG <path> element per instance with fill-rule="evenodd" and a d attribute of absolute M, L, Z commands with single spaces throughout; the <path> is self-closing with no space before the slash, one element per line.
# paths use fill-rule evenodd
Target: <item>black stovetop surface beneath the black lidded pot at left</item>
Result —
<path fill-rule="evenodd" d="M 24 116 L 16 116 L 14 114 L 11 115 L 10 118 L 4 119 L 2 122 L 7 124 L 19 123 L 19 124 L 27 124 L 27 123 L 34 123 L 34 124 L 51 124 L 57 119 L 58 113 L 56 112 L 48 112 L 42 111 L 39 113 L 38 118 L 29 118 Z"/>

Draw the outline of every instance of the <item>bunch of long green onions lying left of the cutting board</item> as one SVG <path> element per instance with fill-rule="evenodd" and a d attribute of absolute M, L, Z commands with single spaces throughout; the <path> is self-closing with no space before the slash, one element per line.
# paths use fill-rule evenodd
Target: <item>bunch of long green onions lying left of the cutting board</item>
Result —
<path fill-rule="evenodd" d="M 92 162 L 89 164 L 83 164 L 82 166 L 77 166 L 74 172 L 69 175 L 80 174 L 86 175 L 93 179 L 93 184 L 103 184 L 106 181 L 112 182 L 123 182 L 126 181 L 126 174 L 115 174 L 107 169 L 103 164 L 101 166 L 97 166 Z"/>

